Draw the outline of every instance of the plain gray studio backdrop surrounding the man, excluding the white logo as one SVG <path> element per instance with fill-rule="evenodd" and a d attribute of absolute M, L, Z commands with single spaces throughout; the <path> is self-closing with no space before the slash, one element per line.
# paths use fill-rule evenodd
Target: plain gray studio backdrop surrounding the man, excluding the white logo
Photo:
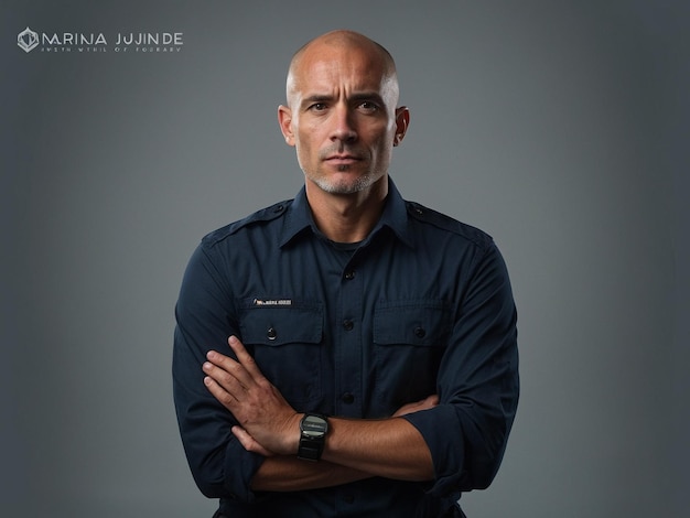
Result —
<path fill-rule="evenodd" d="M 472 517 L 681 517 L 687 2 L 0 4 L 0 515 L 203 517 L 171 397 L 173 306 L 207 231 L 302 183 L 276 122 L 292 52 L 396 56 L 405 196 L 492 234 L 522 398 Z M 183 32 L 177 54 L 25 54 L 41 32 Z"/>

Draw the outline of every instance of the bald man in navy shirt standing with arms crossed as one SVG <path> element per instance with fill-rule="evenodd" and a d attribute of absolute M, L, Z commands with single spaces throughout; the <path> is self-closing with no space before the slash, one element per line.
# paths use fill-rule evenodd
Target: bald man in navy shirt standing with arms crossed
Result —
<path fill-rule="evenodd" d="M 463 516 L 518 400 L 503 259 L 389 179 L 410 116 L 384 47 L 316 37 L 287 98 L 304 188 L 206 236 L 182 283 L 173 378 L 192 473 L 218 517 Z"/>

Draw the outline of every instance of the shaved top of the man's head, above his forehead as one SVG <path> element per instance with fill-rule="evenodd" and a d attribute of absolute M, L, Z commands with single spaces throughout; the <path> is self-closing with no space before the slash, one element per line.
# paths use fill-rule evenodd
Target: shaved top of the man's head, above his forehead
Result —
<path fill-rule="evenodd" d="M 337 30 L 317 36 L 303 45 L 290 62 L 285 96 L 288 106 L 293 105 L 294 93 L 300 87 L 303 75 L 310 66 L 320 60 L 337 55 L 337 52 L 360 52 L 366 54 L 370 66 L 382 72 L 382 80 L 389 83 L 395 91 L 395 101 L 398 100 L 398 75 L 396 63 L 390 53 L 380 44 L 364 34 L 354 31 Z"/>

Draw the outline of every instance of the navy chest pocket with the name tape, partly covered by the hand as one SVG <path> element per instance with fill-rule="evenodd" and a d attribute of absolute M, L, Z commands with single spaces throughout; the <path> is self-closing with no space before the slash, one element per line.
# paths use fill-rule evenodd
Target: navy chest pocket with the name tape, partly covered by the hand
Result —
<path fill-rule="evenodd" d="M 254 299 L 240 307 L 241 339 L 261 373 L 298 411 L 309 410 L 323 392 L 322 305 Z"/>

